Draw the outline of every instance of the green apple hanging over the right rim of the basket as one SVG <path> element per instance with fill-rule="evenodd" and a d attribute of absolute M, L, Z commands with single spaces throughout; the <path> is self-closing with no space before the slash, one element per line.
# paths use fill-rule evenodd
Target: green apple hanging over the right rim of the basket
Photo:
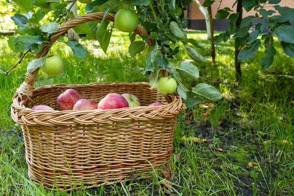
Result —
<path fill-rule="evenodd" d="M 172 94 L 176 90 L 176 81 L 172 77 L 162 77 L 156 82 L 157 91 L 162 96 Z"/>

